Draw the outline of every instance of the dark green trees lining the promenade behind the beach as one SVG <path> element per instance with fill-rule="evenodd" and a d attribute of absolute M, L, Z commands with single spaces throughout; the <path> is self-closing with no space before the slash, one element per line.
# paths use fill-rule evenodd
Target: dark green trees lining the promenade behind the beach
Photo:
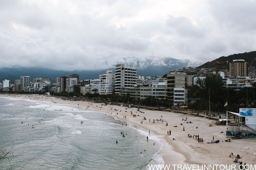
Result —
<path fill-rule="evenodd" d="M 244 87 L 240 90 L 224 88 L 221 80 L 216 80 L 215 77 L 206 77 L 204 79 L 197 79 L 195 85 L 186 85 L 185 89 L 188 90 L 187 97 L 188 108 L 195 110 L 210 110 L 212 112 L 238 112 L 241 107 L 255 107 L 256 101 L 254 98 L 256 83 L 252 84 L 252 87 Z M 44 94 L 45 92 L 8 92 L 19 94 Z M 51 95 L 74 98 L 82 97 L 84 99 L 99 100 L 101 102 L 114 102 L 124 103 L 137 106 L 147 107 L 165 107 L 171 108 L 173 103 L 168 99 L 158 99 L 154 96 L 150 96 L 145 99 L 134 99 L 130 97 L 130 94 L 120 96 L 118 94 L 99 94 L 75 92 L 51 92 Z M 210 98 L 209 98 L 210 97 Z M 210 109 L 209 109 L 210 101 Z M 228 101 L 228 106 L 224 107 L 224 104 Z"/>

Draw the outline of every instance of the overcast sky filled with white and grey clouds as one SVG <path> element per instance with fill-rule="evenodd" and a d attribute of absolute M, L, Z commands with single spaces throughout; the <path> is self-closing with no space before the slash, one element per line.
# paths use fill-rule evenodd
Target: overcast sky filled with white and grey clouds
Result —
<path fill-rule="evenodd" d="M 206 62 L 255 51 L 255 41 L 255 0 L 0 1 L 0 67 Z"/>

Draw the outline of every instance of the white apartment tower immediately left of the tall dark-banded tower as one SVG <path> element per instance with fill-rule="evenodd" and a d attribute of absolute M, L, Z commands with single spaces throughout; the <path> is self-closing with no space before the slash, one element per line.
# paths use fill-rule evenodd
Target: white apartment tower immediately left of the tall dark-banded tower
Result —
<path fill-rule="evenodd" d="M 100 74 L 100 94 L 111 94 L 112 87 L 109 85 L 115 84 L 115 74 L 112 70 L 107 70 L 106 74 Z"/>

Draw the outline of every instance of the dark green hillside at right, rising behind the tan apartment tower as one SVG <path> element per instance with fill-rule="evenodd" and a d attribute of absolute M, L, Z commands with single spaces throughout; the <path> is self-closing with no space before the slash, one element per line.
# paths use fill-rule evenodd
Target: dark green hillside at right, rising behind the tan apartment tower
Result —
<path fill-rule="evenodd" d="M 215 60 L 212 60 L 212 62 L 233 62 L 233 60 L 236 59 L 243 59 L 244 61 L 249 63 L 249 66 L 256 67 L 256 51 L 251 51 L 251 52 L 245 52 L 245 53 L 240 53 L 240 54 L 232 54 L 228 56 L 222 56 L 220 58 L 217 58 Z M 212 68 L 215 67 L 215 64 L 203 64 L 200 65 L 196 68 L 201 69 L 201 68 Z M 219 64 L 219 70 L 222 69 L 229 69 L 229 64 Z"/>

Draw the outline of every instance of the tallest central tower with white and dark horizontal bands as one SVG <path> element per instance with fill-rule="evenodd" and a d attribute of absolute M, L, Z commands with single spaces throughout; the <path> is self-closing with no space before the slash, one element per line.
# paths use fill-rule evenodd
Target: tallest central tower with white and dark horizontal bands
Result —
<path fill-rule="evenodd" d="M 136 85 L 136 66 L 116 64 L 115 69 L 115 93 L 121 95 L 121 88 L 134 87 Z"/>

